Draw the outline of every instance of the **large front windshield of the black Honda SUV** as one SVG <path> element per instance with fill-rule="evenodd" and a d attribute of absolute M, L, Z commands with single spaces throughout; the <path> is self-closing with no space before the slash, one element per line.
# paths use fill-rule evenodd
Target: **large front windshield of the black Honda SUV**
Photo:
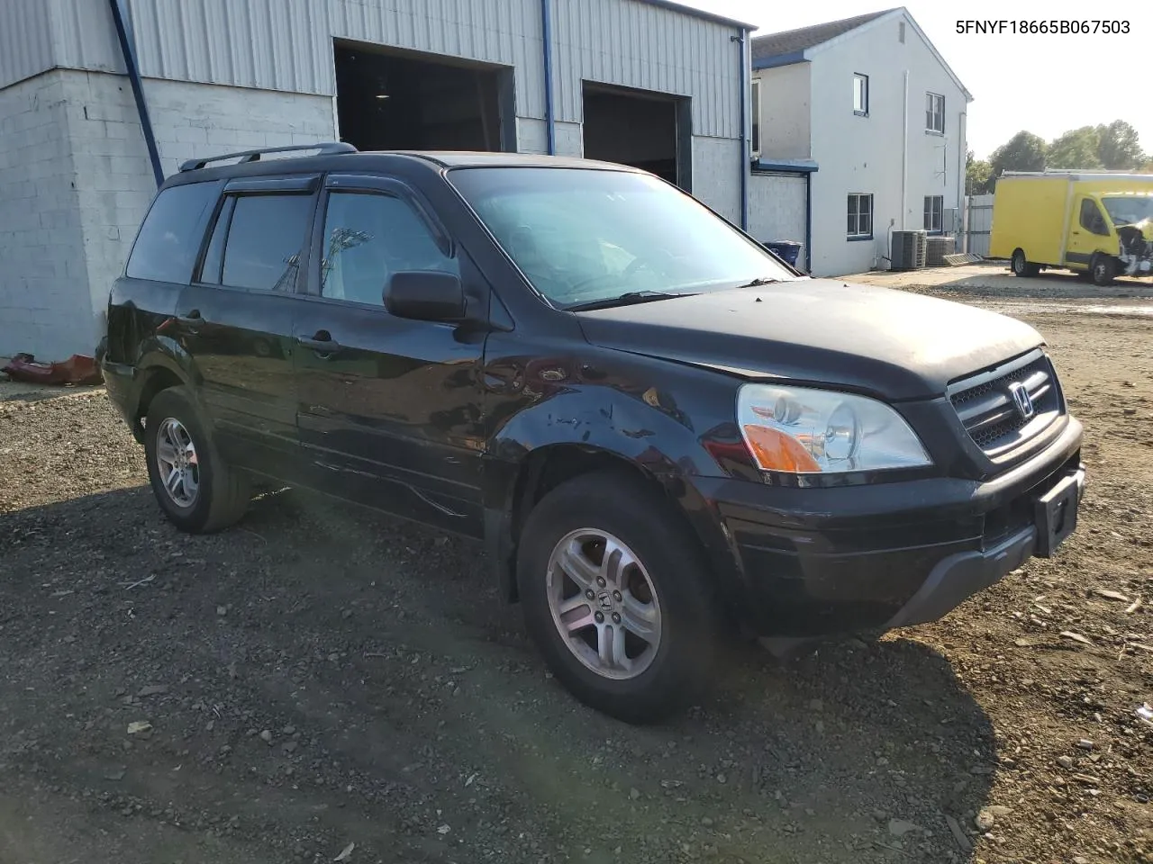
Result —
<path fill-rule="evenodd" d="M 695 199 L 647 174 L 465 168 L 449 176 L 533 287 L 559 306 L 798 278 Z"/>

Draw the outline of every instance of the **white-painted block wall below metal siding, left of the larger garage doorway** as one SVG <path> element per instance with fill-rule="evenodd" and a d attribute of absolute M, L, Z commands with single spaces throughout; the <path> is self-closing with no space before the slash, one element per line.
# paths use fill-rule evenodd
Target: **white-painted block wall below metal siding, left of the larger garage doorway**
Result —
<path fill-rule="evenodd" d="M 336 137 L 325 96 L 144 82 L 165 174 Z M 127 78 L 53 70 L 0 90 L 0 356 L 91 354 L 156 182 Z"/>

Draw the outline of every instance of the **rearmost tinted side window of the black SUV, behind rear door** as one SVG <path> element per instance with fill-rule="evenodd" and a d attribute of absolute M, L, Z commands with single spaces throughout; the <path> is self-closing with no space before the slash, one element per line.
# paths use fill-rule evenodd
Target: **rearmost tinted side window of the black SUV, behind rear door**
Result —
<path fill-rule="evenodd" d="M 131 279 L 188 285 L 201 249 L 204 222 L 220 183 L 184 183 L 160 191 L 141 225 L 125 274 Z"/>

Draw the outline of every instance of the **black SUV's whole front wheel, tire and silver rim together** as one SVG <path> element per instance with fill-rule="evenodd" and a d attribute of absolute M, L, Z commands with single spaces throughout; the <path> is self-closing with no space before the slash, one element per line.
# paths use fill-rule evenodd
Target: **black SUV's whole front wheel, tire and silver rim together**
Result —
<path fill-rule="evenodd" d="M 578 699 L 631 723 L 701 696 L 718 616 L 695 539 L 640 482 L 598 471 L 528 515 L 517 579 L 529 635 Z"/>

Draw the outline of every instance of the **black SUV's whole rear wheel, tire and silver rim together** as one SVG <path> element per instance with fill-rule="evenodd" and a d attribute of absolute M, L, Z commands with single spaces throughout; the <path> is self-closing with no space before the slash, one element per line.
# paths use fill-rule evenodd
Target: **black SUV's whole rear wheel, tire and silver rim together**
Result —
<path fill-rule="evenodd" d="M 181 531 L 219 531 L 248 509 L 249 479 L 220 457 L 187 387 L 169 387 L 152 399 L 144 454 L 152 494 Z"/>

